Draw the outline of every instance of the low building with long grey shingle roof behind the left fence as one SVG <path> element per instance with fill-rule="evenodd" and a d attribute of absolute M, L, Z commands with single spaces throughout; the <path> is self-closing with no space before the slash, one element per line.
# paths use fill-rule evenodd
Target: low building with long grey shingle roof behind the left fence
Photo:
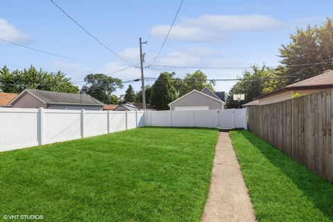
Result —
<path fill-rule="evenodd" d="M 102 110 L 103 103 L 85 94 L 24 89 L 10 102 L 13 108 L 44 108 L 58 110 Z"/>

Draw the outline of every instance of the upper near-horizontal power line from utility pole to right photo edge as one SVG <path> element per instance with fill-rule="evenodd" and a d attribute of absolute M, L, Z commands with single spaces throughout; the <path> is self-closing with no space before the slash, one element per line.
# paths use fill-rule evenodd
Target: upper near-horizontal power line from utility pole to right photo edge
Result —
<path fill-rule="evenodd" d="M 321 65 L 321 64 L 327 64 L 331 62 L 326 62 L 327 60 L 323 62 L 316 62 L 316 63 L 305 63 L 305 64 L 296 64 L 296 65 L 280 65 L 281 67 L 300 67 L 300 66 L 307 66 L 307 65 Z M 177 69 L 251 69 L 253 67 L 186 67 L 186 66 L 173 66 L 173 65 L 148 65 L 148 67 L 168 67 L 168 68 L 177 68 Z M 259 68 L 276 68 L 279 67 L 279 65 L 276 66 L 262 66 Z M 309 67 L 308 67 L 309 68 Z"/>

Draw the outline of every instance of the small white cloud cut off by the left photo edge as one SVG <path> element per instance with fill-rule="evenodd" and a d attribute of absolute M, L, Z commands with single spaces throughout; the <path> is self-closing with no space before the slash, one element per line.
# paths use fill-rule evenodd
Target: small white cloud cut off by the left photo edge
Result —
<path fill-rule="evenodd" d="M 12 42 L 30 42 L 31 37 L 28 34 L 21 33 L 12 24 L 5 19 L 0 19 L 0 38 Z"/>

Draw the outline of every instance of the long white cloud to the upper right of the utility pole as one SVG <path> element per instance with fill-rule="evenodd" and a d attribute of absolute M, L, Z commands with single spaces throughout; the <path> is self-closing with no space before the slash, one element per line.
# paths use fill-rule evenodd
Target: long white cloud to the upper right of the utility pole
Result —
<path fill-rule="evenodd" d="M 201 15 L 184 17 L 173 26 L 170 37 L 177 40 L 210 41 L 230 31 L 262 31 L 284 27 L 278 19 L 266 15 Z M 151 34 L 164 37 L 168 25 L 154 26 Z"/>

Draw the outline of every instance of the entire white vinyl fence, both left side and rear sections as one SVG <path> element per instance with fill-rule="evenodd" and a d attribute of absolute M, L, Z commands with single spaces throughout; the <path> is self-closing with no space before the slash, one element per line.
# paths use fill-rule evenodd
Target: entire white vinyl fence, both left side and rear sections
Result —
<path fill-rule="evenodd" d="M 246 128 L 246 109 L 85 111 L 0 108 L 0 152 L 141 126 Z"/>

